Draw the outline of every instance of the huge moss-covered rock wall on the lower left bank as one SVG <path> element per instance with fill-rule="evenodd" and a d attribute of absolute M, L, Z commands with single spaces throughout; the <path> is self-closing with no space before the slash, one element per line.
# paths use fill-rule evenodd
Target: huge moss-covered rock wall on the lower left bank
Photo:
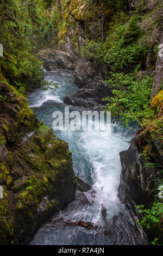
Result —
<path fill-rule="evenodd" d="M 0 244 L 26 244 L 40 224 L 72 202 L 68 144 L 39 122 L 23 96 L 0 83 Z"/>

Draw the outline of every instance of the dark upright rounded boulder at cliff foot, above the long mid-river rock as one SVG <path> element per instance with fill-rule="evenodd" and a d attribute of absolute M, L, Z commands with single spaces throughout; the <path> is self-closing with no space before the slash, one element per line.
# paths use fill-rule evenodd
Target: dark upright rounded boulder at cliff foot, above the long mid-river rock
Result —
<path fill-rule="evenodd" d="M 95 70 L 91 62 L 79 62 L 74 71 L 74 83 L 76 83 L 79 88 L 83 87 L 92 82 L 94 75 Z"/>

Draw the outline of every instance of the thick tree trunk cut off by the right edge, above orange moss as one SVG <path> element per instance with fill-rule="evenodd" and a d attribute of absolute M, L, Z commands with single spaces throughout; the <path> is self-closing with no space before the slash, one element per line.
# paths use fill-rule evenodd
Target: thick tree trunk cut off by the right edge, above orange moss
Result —
<path fill-rule="evenodd" d="M 160 45 L 161 44 L 163 44 L 163 27 L 161 28 Z M 156 65 L 155 65 L 155 74 L 154 74 L 154 81 L 153 81 L 151 99 L 156 94 L 158 94 L 158 92 L 162 89 L 162 82 L 163 82 L 163 54 L 162 54 L 161 49 L 162 49 L 162 47 L 160 46 L 159 51 L 158 51 L 158 57 L 157 57 L 157 60 L 156 60 Z"/>

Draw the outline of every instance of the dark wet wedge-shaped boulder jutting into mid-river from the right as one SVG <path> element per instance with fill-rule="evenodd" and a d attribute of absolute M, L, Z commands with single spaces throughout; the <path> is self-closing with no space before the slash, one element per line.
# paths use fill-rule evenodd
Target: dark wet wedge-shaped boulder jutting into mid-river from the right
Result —
<path fill-rule="evenodd" d="M 112 96 L 109 84 L 99 81 L 89 83 L 77 92 L 67 95 L 64 102 L 73 106 L 99 108 L 104 104 L 102 99 L 106 96 Z"/>

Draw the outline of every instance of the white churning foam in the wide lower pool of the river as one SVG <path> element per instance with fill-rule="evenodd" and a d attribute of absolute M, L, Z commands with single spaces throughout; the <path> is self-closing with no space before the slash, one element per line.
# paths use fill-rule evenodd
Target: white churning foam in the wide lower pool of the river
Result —
<path fill-rule="evenodd" d="M 114 127 L 118 132 L 114 132 Z M 125 130 L 129 133 L 130 128 Z M 105 132 L 106 133 L 106 132 Z M 68 142 L 72 151 L 74 170 L 80 168 L 82 178 L 89 172 L 92 188 L 96 191 L 91 208 L 87 209 L 87 218 L 93 215 L 93 222 L 101 222 L 101 209 L 107 210 L 107 218 L 118 214 L 122 207 L 118 198 L 121 162 L 119 153 L 126 150 L 129 144 L 122 141 L 124 131 L 120 125 L 112 124 L 110 135 L 102 136 L 99 131 L 63 131 L 59 137 Z M 122 137 L 121 137 L 122 136 Z M 130 136 L 128 136 L 130 139 Z M 83 164 L 83 161 L 85 164 Z"/>

